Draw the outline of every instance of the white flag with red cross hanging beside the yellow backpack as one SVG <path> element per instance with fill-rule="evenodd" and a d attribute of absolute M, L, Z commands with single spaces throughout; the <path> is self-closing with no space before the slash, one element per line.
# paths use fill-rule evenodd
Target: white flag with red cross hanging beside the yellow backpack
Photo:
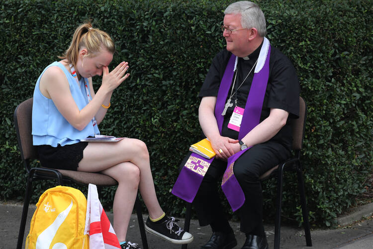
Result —
<path fill-rule="evenodd" d="M 90 235 L 90 249 L 120 249 L 118 238 L 102 208 L 94 184 L 88 186 L 84 234 Z"/>

